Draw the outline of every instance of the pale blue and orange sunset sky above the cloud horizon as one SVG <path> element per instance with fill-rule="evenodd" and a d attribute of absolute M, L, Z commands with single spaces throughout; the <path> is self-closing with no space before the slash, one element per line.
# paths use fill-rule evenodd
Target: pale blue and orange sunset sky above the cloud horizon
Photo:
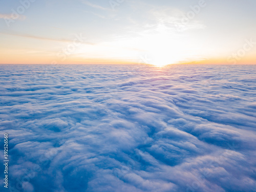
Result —
<path fill-rule="evenodd" d="M 0 63 L 254 64 L 254 0 L 0 0 Z"/>

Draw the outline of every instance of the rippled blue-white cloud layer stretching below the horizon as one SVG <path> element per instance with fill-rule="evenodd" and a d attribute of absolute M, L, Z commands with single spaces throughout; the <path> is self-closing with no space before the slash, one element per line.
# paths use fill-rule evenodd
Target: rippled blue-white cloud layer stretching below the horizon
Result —
<path fill-rule="evenodd" d="M 255 191 L 255 66 L 0 68 L 16 191 Z"/>

